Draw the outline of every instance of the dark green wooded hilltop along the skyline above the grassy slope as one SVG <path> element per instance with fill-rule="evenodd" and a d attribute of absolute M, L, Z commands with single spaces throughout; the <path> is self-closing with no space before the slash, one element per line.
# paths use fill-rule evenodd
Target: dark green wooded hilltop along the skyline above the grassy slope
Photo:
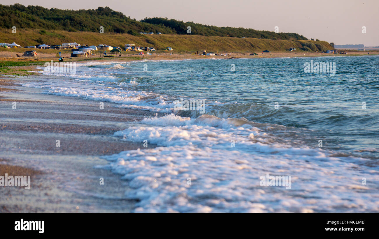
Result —
<path fill-rule="evenodd" d="M 108 7 L 75 11 L 20 4 L 0 5 L 0 28 L 10 29 L 12 26 L 16 26 L 17 29 L 29 28 L 70 32 L 99 32 L 100 26 L 103 26 L 104 33 L 128 33 L 132 35 L 137 35 L 139 32 L 188 34 L 187 26 L 191 26 L 191 34 L 202 36 L 308 40 L 297 33 L 274 33 L 273 31 L 257 31 L 246 28 L 207 26 L 157 17 L 138 21 Z"/>

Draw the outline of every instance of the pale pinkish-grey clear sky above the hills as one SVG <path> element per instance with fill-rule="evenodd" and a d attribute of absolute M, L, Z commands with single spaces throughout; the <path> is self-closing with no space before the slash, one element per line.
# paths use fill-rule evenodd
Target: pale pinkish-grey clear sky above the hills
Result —
<path fill-rule="evenodd" d="M 45 8 L 96 9 L 108 6 L 132 19 L 167 17 L 214 26 L 299 33 L 336 45 L 379 45 L 379 0 L 0 0 Z M 362 33 L 362 26 L 366 33 Z"/>

